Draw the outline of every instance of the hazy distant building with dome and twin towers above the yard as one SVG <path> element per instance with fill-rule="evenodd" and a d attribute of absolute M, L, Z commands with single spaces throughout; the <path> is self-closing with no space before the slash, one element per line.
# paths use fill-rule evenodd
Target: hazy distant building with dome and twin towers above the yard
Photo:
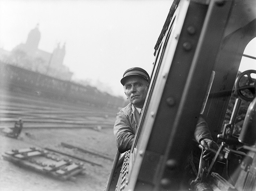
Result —
<path fill-rule="evenodd" d="M 66 53 L 65 43 L 62 47 L 58 43 L 54 51 L 50 53 L 38 49 L 40 38 L 41 34 L 37 24 L 29 32 L 25 44 L 19 44 L 9 53 L 3 49 L 0 50 L 1 60 L 54 78 L 70 81 L 73 73 L 69 71 L 67 66 L 63 65 Z"/>

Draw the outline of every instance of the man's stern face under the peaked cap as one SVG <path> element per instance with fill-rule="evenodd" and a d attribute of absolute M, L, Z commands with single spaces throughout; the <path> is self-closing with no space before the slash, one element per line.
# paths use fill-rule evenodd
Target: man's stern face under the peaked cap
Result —
<path fill-rule="evenodd" d="M 148 92 L 147 85 L 147 81 L 140 76 L 128 76 L 125 80 L 125 95 L 135 107 L 143 108 Z"/>

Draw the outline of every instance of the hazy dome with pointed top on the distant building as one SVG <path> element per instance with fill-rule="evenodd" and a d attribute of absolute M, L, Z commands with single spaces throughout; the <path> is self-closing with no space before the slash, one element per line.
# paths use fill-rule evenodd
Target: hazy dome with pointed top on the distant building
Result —
<path fill-rule="evenodd" d="M 36 50 L 40 41 L 41 34 L 38 30 L 38 24 L 36 28 L 32 29 L 29 32 L 28 39 L 26 45 L 30 50 Z"/>

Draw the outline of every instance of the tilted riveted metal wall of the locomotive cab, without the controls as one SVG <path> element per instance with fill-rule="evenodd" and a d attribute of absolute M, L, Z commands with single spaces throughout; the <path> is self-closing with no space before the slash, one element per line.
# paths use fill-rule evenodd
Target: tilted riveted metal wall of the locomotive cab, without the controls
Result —
<path fill-rule="evenodd" d="M 122 168 L 129 170 L 116 190 L 187 189 L 184 166 L 203 103 L 217 141 L 244 48 L 256 36 L 256 14 L 252 0 L 207 2 L 181 0 L 172 16 L 156 51 L 129 164 Z"/>

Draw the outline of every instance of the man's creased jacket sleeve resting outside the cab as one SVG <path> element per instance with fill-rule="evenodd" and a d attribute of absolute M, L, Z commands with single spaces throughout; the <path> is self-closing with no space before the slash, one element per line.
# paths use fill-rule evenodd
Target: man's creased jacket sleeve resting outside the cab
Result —
<path fill-rule="evenodd" d="M 120 153 L 124 153 L 131 149 L 135 135 L 129 119 L 122 112 L 119 112 L 116 116 L 114 135 L 116 138 L 117 149 Z"/>

